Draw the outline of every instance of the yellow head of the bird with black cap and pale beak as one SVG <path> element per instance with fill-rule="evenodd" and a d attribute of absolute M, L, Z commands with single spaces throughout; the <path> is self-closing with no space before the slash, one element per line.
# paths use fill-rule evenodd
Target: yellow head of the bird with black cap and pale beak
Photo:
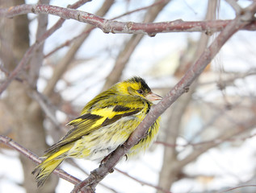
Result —
<path fill-rule="evenodd" d="M 151 102 L 162 99 L 162 96 L 153 93 L 145 80 L 138 76 L 116 84 L 116 88 L 123 94 L 141 96 Z"/>

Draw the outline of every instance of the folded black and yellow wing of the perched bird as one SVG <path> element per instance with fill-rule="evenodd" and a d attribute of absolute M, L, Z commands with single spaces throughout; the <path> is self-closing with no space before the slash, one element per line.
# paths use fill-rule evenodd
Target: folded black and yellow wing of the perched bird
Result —
<path fill-rule="evenodd" d="M 112 96 L 105 100 L 97 101 L 89 109 L 83 110 L 83 114 L 80 117 L 70 121 L 68 125 L 73 125 L 73 129 L 70 129 L 61 141 L 51 146 L 46 152 L 54 151 L 58 147 L 74 142 L 96 129 L 110 125 L 123 117 L 140 113 L 147 108 L 148 104 L 145 105 L 145 101 L 138 97 L 132 97 Z"/>

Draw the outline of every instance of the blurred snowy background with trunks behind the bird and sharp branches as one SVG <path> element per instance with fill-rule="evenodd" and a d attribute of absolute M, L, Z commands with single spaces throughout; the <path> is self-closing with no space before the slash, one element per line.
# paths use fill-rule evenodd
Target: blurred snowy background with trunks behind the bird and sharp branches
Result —
<path fill-rule="evenodd" d="M 67 7 L 69 0 L 0 0 L 1 8 L 43 3 Z M 250 0 L 237 1 L 241 7 Z M 233 19 L 225 0 L 99 0 L 78 10 L 116 21 L 152 23 Z M 143 77 L 162 96 L 195 63 L 217 33 L 171 32 L 148 35 L 105 34 L 72 19 L 50 14 L 0 18 L 0 81 L 29 62 L 1 95 L 0 134 L 41 156 L 70 129 L 99 92 L 119 80 Z M 45 41 L 41 35 L 57 29 Z M 30 58 L 29 47 L 40 43 Z M 96 192 L 256 192 L 256 35 L 238 31 L 189 92 L 162 115 L 160 133 L 149 152 L 123 161 Z M 27 57 L 27 58 L 26 58 Z M 0 192 L 70 192 L 73 184 L 51 175 L 36 189 L 28 158 L 0 145 Z M 82 159 L 61 168 L 78 179 L 99 166 Z M 251 186 L 251 185 L 254 185 Z"/>

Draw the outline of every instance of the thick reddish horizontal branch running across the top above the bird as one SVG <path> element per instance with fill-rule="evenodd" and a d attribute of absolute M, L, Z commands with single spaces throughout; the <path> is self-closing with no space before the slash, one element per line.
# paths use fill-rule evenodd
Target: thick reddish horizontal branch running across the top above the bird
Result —
<path fill-rule="evenodd" d="M 178 32 L 178 31 L 221 31 L 231 20 L 217 20 L 207 22 L 184 22 L 176 20 L 162 23 L 132 23 L 117 22 L 110 19 L 101 18 L 95 14 L 90 14 L 82 10 L 73 10 L 59 6 L 49 5 L 21 5 L 13 6 L 9 9 L 0 9 L 0 17 L 12 18 L 19 14 L 53 14 L 61 18 L 78 20 L 82 23 L 89 23 L 99 27 L 105 33 L 126 33 L 126 34 L 147 34 L 156 35 L 157 33 Z M 255 31 L 256 21 L 250 23 L 242 29 Z"/>

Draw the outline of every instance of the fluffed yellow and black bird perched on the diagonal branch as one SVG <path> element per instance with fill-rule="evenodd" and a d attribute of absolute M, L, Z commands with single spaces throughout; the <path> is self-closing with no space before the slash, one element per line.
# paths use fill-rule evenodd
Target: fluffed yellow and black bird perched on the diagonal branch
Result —
<path fill-rule="evenodd" d="M 38 171 L 37 186 L 42 186 L 65 158 L 102 161 L 129 138 L 149 113 L 152 102 L 161 99 L 141 77 L 124 80 L 95 96 L 82 109 L 81 116 L 67 124 L 73 129 L 46 150 L 44 161 L 32 171 L 32 174 Z M 128 151 L 127 157 L 149 148 L 157 137 L 159 119 L 149 128 L 145 138 Z"/>

